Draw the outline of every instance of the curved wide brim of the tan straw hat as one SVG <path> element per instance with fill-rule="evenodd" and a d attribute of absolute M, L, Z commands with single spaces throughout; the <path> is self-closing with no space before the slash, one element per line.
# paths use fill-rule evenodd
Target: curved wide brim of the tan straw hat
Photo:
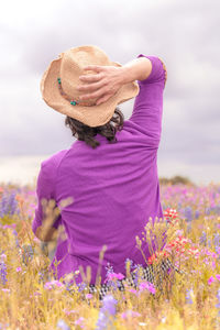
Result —
<path fill-rule="evenodd" d="M 57 84 L 59 77 L 62 57 L 51 62 L 41 80 L 41 92 L 43 100 L 54 110 L 74 118 L 89 127 L 99 127 L 107 123 L 113 116 L 117 105 L 132 99 L 139 94 L 139 85 L 133 81 L 124 84 L 106 102 L 98 106 L 72 106 L 68 100 L 62 97 Z M 121 66 L 111 62 L 114 66 Z"/>

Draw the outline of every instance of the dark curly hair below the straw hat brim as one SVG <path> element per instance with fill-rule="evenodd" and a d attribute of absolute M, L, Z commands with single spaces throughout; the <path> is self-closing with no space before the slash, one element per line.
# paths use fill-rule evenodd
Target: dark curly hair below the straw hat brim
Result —
<path fill-rule="evenodd" d="M 119 107 L 116 108 L 114 113 L 109 122 L 96 128 L 88 127 L 68 116 L 65 119 L 65 125 L 70 128 L 72 135 L 80 141 L 85 141 L 86 144 L 90 145 L 92 148 L 96 148 L 98 145 L 100 145 L 100 143 L 94 139 L 97 133 L 106 136 L 109 143 L 116 143 L 116 133 L 117 131 L 121 131 L 123 129 L 123 122 L 124 116 Z"/>

